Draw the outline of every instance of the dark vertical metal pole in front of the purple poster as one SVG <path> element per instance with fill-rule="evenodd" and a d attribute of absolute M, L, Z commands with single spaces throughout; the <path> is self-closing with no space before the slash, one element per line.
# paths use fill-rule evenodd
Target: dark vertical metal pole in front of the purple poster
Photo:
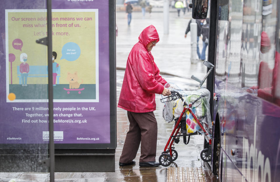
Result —
<path fill-rule="evenodd" d="M 48 23 L 48 112 L 49 112 L 49 158 L 50 158 L 50 182 L 54 182 L 54 141 L 53 141 L 53 62 L 52 62 L 52 22 L 51 0 L 47 0 L 47 23 Z"/>

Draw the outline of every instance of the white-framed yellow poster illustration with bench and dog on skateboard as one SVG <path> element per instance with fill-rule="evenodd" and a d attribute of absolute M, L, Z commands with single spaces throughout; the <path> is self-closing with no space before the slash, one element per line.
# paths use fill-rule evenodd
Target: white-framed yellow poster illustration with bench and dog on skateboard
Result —
<path fill-rule="evenodd" d="M 52 12 L 54 102 L 98 101 L 98 9 Z M 34 93 L 47 90 L 47 52 L 34 44 L 47 36 L 46 20 L 45 10 L 6 10 L 6 89 L 16 95 L 13 102 L 48 99 Z"/>

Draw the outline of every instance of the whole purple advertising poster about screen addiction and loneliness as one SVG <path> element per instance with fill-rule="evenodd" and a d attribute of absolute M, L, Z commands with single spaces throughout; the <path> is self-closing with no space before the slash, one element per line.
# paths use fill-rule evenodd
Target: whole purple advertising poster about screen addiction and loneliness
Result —
<path fill-rule="evenodd" d="M 47 34 L 55 143 L 110 143 L 108 7 L 108 0 L 52 1 L 52 32 L 46 9 L 5 9 L 0 143 L 48 143 L 47 46 L 35 42 Z"/>

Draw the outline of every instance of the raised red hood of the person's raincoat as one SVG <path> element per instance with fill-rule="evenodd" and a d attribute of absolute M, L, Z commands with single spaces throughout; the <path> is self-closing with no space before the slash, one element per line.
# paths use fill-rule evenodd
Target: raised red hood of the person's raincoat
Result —
<path fill-rule="evenodd" d="M 156 40 L 156 42 L 158 42 L 159 34 L 157 33 L 154 25 L 150 25 L 149 27 L 146 27 L 139 35 L 138 40 L 145 46 L 145 48 L 147 47 L 148 43 L 152 41 Z"/>

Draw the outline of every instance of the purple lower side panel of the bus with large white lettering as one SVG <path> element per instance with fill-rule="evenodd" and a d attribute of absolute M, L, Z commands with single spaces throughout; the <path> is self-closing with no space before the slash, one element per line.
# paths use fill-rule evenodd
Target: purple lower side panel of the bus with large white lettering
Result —
<path fill-rule="evenodd" d="M 215 92 L 218 101 L 214 102 L 214 111 L 220 115 L 222 179 L 241 181 L 238 171 L 247 181 L 278 181 L 280 108 L 217 78 Z M 240 178 L 233 178 L 227 171 L 234 171 Z"/>

